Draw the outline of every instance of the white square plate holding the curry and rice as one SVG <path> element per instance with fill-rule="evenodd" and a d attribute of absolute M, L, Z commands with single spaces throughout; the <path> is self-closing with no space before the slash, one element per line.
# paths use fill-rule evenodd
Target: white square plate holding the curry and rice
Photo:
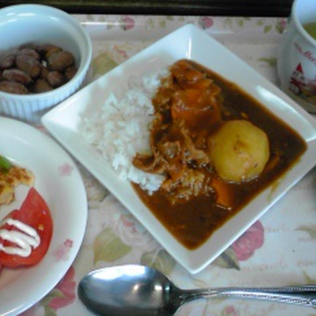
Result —
<path fill-rule="evenodd" d="M 236 82 L 276 116 L 292 126 L 308 143 L 299 162 L 277 186 L 270 186 L 195 250 L 180 244 L 135 194 L 130 183 L 118 179 L 111 165 L 79 134 L 81 114 L 101 107 L 110 92 L 127 88 L 127 79 L 150 70 L 167 67 L 188 58 Z M 237 56 L 193 25 L 186 25 L 90 83 L 42 117 L 48 131 L 106 186 L 148 229 L 161 245 L 189 272 L 197 273 L 224 251 L 251 226 L 277 199 L 285 194 L 316 163 L 316 123 L 307 112 L 263 78 Z"/>

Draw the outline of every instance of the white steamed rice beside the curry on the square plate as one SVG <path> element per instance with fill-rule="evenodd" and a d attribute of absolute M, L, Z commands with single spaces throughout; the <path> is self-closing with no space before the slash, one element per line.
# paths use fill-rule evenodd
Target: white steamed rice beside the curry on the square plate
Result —
<path fill-rule="evenodd" d="M 154 114 L 152 98 L 167 70 L 130 78 L 118 98 L 110 93 L 99 111 L 83 118 L 81 134 L 96 146 L 122 180 L 132 181 L 149 194 L 158 190 L 164 177 L 135 168 L 136 153 L 150 153 L 149 125 Z"/>

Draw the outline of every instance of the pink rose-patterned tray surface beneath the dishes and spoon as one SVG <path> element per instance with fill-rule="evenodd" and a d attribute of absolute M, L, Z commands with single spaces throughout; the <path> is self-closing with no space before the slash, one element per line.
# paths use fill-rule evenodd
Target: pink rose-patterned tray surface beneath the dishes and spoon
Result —
<path fill-rule="evenodd" d="M 222 42 L 278 84 L 277 46 L 285 18 L 75 15 L 88 30 L 93 61 L 86 83 L 186 23 Z M 88 222 L 78 256 L 58 285 L 23 316 L 91 315 L 76 296 L 89 271 L 140 263 L 183 288 L 316 283 L 316 169 L 312 170 L 212 264 L 190 275 L 135 218 L 78 164 L 88 196 Z M 67 257 L 71 243 L 58 254 Z M 311 308 L 236 299 L 199 300 L 178 316 L 315 316 Z"/>

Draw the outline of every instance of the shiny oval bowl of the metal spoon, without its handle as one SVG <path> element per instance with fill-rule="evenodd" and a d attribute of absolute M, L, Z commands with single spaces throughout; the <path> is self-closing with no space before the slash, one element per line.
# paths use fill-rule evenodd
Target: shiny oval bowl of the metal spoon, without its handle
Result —
<path fill-rule="evenodd" d="M 139 265 L 93 271 L 78 287 L 85 306 L 99 315 L 111 316 L 174 315 L 179 291 L 157 270 Z"/>

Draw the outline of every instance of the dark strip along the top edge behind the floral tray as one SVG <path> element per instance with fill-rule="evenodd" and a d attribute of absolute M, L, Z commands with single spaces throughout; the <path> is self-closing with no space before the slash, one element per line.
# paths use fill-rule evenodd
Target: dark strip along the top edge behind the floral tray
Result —
<path fill-rule="evenodd" d="M 293 0 L 0 0 L 0 8 L 20 3 L 52 5 L 73 14 L 288 16 Z"/>

